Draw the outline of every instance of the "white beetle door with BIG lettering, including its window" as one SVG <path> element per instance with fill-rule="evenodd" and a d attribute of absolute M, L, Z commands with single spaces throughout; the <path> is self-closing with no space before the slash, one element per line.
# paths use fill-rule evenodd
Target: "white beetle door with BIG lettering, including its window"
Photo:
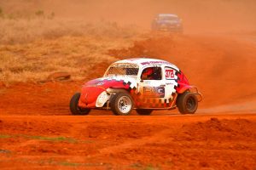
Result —
<path fill-rule="evenodd" d="M 146 69 L 153 68 L 153 77 L 144 78 Z M 163 68 L 160 65 L 144 67 L 140 82 L 136 104 L 138 108 L 161 108 L 166 96 L 166 81 Z"/>

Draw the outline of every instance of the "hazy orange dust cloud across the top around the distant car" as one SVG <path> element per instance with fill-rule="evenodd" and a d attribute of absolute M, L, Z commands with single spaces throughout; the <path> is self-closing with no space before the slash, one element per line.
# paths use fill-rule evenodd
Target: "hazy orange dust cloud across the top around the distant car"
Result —
<path fill-rule="evenodd" d="M 9 13 L 41 9 L 57 17 L 88 22 L 107 20 L 149 29 L 155 14 L 178 14 L 185 32 L 254 31 L 254 0 L 10 0 L 0 1 Z"/>

